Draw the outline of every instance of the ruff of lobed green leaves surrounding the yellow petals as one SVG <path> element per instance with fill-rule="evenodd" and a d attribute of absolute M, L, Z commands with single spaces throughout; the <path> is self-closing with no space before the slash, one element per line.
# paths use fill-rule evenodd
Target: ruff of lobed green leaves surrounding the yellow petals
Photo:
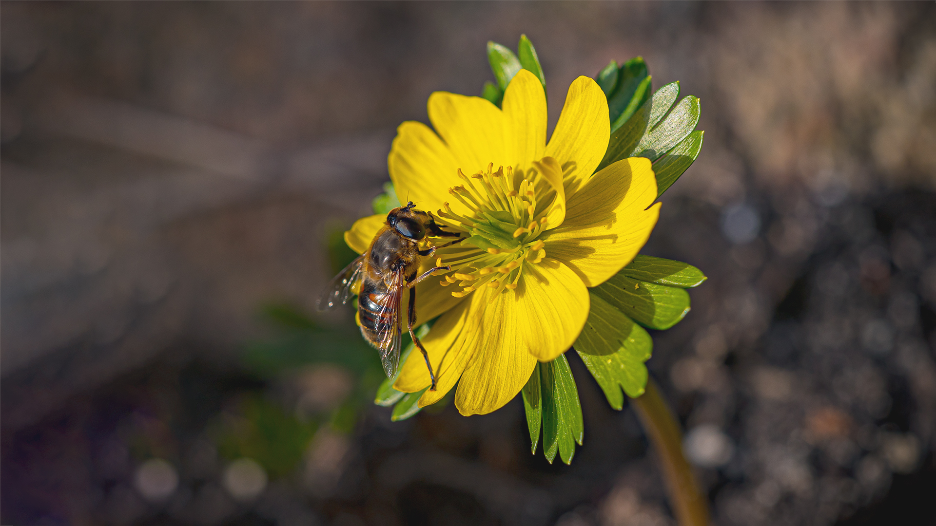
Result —
<path fill-rule="evenodd" d="M 515 54 L 505 46 L 488 43 L 496 83 L 486 82 L 482 96 L 497 106 L 520 69 L 533 72 L 546 90 L 546 77 L 530 39 L 521 36 L 518 50 Z M 612 61 L 595 80 L 607 96 L 611 130 L 607 152 L 595 171 L 627 157 L 646 157 L 652 162 L 657 195 L 662 195 L 701 150 L 703 132 L 694 131 L 699 99 L 689 95 L 677 102 L 679 82 L 652 93 L 651 75 L 640 57 L 621 66 Z M 400 206 L 392 184 L 384 188 L 386 193 L 373 200 L 375 213 Z M 497 218 L 491 217 L 490 228 L 495 226 Z M 645 362 L 651 357 L 653 342 L 644 328 L 662 330 L 679 323 L 690 309 L 685 289 L 705 280 L 705 275 L 689 264 L 641 255 L 590 289 L 591 309 L 574 348 L 611 407 L 622 409 L 624 393 L 636 398 L 647 386 Z M 429 324 L 421 327 L 418 335 L 421 338 L 428 332 Z M 411 344 L 404 350 L 402 360 L 412 349 Z M 416 415 L 416 401 L 422 393 L 404 394 L 391 387 L 394 380 L 384 381 L 374 402 L 393 405 L 393 420 Z M 575 444 L 582 444 L 584 427 L 578 388 L 565 356 L 538 363 L 521 393 L 534 453 L 542 430 L 546 458 L 551 462 L 558 453 L 565 463 L 571 462 Z"/>

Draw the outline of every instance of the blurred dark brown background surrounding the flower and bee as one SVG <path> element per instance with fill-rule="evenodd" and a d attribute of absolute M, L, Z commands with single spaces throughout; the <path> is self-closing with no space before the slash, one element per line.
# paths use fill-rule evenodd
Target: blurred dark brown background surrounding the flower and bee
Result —
<path fill-rule="evenodd" d="M 578 357 L 549 465 L 517 400 L 391 422 L 314 314 L 396 125 L 521 33 L 552 124 L 611 59 L 701 97 L 643 252 L 709 275 L 649 367 L 715 522 L 936 524 L 932 2 L 0 6 L 4 524 L 675 524 Z"/>

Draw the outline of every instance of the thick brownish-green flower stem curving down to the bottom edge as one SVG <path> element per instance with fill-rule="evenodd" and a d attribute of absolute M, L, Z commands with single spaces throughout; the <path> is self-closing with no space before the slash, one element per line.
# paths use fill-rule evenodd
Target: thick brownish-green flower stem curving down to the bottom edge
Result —
<path fill-rule="evenodd" d="M 669 502 L 680 526 L 708 525 L 709 505 L 699 493 L 693 469 L 682 455 L 680 425 L 656 382 L 650 378 L 647 390 L 632 402 L 660 458 Z"/>

